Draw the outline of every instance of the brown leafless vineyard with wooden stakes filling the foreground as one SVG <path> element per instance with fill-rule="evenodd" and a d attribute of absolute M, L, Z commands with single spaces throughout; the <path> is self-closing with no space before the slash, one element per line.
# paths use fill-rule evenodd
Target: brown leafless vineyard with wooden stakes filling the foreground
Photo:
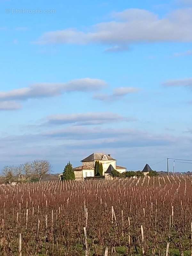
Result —
<path fill-rule="evenodd" d="M 0 186 L 0 255 L 191 255 L 191 176 Z"/>

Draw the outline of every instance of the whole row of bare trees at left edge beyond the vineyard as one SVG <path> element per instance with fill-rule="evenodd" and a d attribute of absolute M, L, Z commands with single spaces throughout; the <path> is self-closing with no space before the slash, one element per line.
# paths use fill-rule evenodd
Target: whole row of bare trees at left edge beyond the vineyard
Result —
<path fill-rule="evenodd" d="M 5 166 L 2 180 L 5 184 L 12 182 L 41 181 L 44 174 L 51 172 L 52 166 L 47 160 L 34 160 L 19 166 Z"/>

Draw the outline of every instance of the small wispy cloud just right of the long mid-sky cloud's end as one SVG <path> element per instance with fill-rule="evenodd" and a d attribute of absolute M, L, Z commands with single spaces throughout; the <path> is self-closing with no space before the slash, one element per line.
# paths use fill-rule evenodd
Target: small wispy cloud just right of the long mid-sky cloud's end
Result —
<path fill-rule="evenodd" d="M 130 94 L 130 93 L 135 93 L 139 92 L 140 89 L 136 87 L 118 87 L 113 90 L 112 94 L 107 94 L 107 93 L 99 93 L 95 94 L 93 96 L 93 99 L 96 100 L 101 100 L 101 101 L 114 101 L 114 100 L 119 100 L 123 96 Z"/>

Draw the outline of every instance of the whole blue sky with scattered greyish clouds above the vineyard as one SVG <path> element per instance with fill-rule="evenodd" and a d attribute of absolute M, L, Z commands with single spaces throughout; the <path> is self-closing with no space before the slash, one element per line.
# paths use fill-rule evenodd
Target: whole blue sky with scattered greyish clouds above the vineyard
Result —
<path fill-rule="evenodd" d="M 127 170 L 192 159 L 192 0 L 0 7 L 0 170 L 45 159 L 58 173 L 92 152 Z"/>

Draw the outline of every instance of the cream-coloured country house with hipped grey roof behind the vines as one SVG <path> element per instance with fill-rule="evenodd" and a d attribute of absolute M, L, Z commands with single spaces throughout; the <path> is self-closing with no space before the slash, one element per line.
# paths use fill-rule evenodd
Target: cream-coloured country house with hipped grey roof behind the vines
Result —
<path fill-rule="evenodd" d="M 73 168 L 76 180 L 86 177 L 94 177 L 94 166 L 96 161 L 102 163 L 103 176 L 105 176 L 105 172 L 110 165 L 112 165 L 113 168 L 120 173 L 126 172 L 126 168 L 116 165 L 116 159 L 112 158 L 109 154 L 107 155 L 104 153 L 93 153 L 90 156 L 87 156 L 86 158 L 81 160 L 81 166 Z M 62 173 L 59 174 L 60 179 L 61 177 Z"/>

